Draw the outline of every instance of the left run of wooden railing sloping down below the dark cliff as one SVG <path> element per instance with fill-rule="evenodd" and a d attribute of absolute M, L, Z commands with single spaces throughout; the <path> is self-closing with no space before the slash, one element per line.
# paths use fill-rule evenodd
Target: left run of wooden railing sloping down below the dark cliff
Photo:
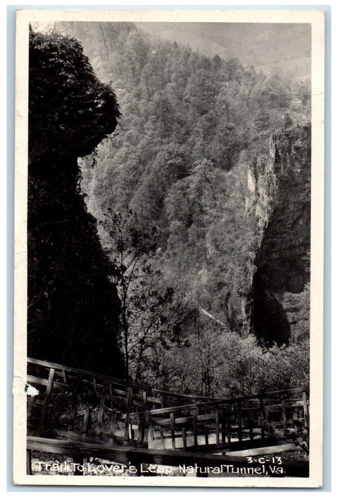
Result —
<path fill-rule="evenodd" d="M 135 440 L 130 413 L 208 398 L 171 393 L 78 368 L 28 359 L 27 382 L 39 394 L 28 398 L 28 429 L 67 431 Z M 57 427 L 57 428 L 56 428 Z"/>

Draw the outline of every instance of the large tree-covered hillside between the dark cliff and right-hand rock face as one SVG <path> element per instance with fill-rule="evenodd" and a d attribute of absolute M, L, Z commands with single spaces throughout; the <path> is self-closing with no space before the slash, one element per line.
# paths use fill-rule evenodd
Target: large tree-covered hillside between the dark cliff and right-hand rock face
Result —
<path fill-rule="evenodd" d="M 128 376 L 206 395 L 306 383 L 308 275 L 297 288 L 269 289 L 289 302 L 285 335 L 259 333 L 253 319 L 274 199 L 257 209 L 271 189 L 253 197 L 248 175 L 271 159 L 276 130 L 294 138 L 310 121 L 309 83 L 207 58 L 131 23 L 54 29 L 80 41 L 122 114 L 81 161 L 81 190 L 115 265 Z M 256 312 L 269 305 L 263 293 Z"/>

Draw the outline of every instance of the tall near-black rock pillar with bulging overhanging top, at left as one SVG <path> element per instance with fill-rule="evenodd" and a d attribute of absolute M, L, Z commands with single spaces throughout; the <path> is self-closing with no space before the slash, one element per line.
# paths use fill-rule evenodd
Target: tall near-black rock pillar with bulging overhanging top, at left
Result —
<path fill-rule="evenodd" d="M 30 33 L 28 355 L 123 376 L 120 302 L 77 157 L 115 129 L 115 94 L 76 40 Z"/>

